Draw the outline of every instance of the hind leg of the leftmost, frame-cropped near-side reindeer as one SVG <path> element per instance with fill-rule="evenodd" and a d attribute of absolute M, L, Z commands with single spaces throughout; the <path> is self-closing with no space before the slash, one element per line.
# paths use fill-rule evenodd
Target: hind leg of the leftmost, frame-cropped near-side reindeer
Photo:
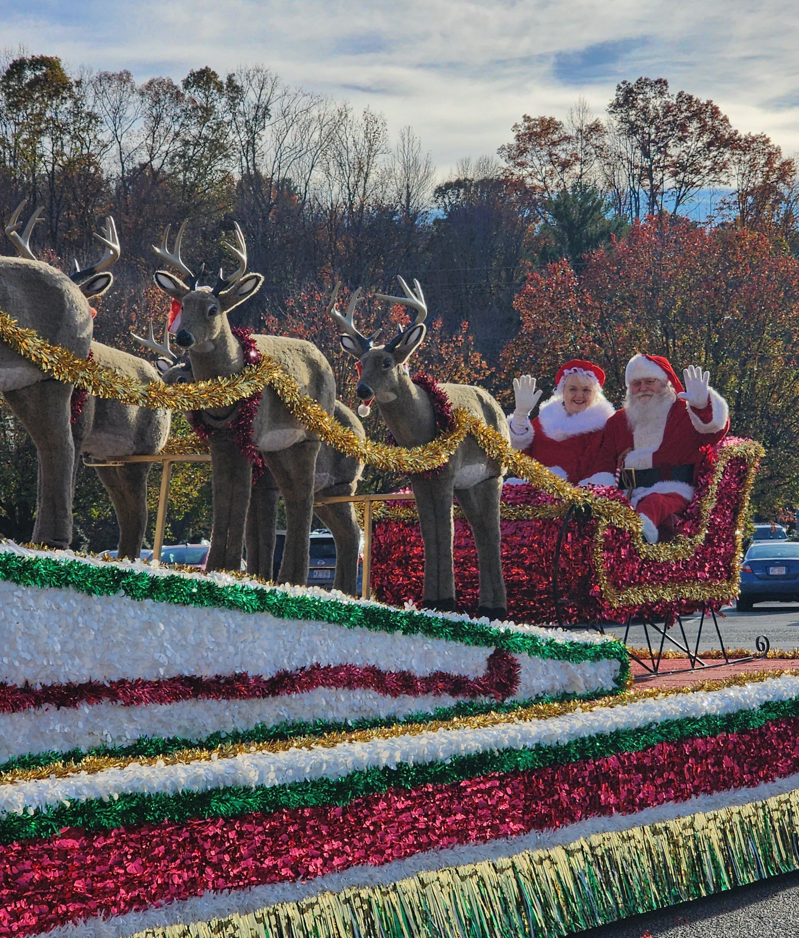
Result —
<path fill-rule="evenodd" d="M 54 548 L 67 548 L 72 540 L 75 446 L 69 426 L 71 394 L 71 385 L 45 380 L 4 395 L 38 452 L 40 485 L 32 537 L 34 543 Z"/>

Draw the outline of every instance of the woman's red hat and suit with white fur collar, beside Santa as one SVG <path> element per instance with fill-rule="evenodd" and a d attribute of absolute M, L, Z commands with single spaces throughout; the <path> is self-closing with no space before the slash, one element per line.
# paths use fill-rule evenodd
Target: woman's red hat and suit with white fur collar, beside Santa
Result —
<path fill-rule="evenodd" d="M 578 414 L 567 414 L 563 386 L 569 374 L 580 373 L 595 384 L 594 400 Z M 594 468 L 602 443 L 602 431 L 614 413 L 602 393 L 605 372 L 589 361 L 568 361 L 555 375 L 557 390 L 538 408 L 538 416 L 519 420 L 508 417 L 510 442 L 556 476 L 577 484 Z"/>

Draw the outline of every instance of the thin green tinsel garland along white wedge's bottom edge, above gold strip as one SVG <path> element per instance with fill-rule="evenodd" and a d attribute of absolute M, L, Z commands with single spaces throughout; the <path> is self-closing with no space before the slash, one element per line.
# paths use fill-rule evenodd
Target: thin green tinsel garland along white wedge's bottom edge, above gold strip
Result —
<path fill-rule="evenodd" d="M 408 726 L 414 723 L 425 723 L 429 720 L 449 720 L 462 717 L 481 717 L 489 713 L 514 713 L 536 703 L 565 703 L 568 701 L 590 702 L 601 700 L 610 696 L 605 690 L 597 690 L 593 694 L 560 694 L 557 696 L 535 697 L 525 701 L 511 701 L 509 703 L 477 703 L 475 701 L 461 701 L 452 707 L 436 707 L 431 711 L 419 710 L 402 718 L 369 718 L 349 720 L 346 722 L 327 721 L 315 719 L 294 720 L 293 722 L 270 725 L 259 723 L 250 730 L 232 730 L 230 733 L 212 733 L 204 739 L 184 739 L 182 736 L 143 736 L 129 746 L 98 746 L 96 749 L 68 749 L 58 752 L 49 749 L 46 752 L 29 753 L 15 756 L 8 762 L 0 764 L 0 773 L 6 774 L 15 769 L 39 768 L 56 762 L 73 763 L 80 771 L 78 764 L 90 756 L 108 756 L 112 759 L 138 758 L 139 756 L 155 757 L 171 755 L 182 749 L 217 749 L 218 746 L 235 745 L 237 743 L 271 743 L 297 739 L 303 736 L 324 736 L 328 733 L 355 733 L 358 730 L 380 730 L 387 726 Z"/>

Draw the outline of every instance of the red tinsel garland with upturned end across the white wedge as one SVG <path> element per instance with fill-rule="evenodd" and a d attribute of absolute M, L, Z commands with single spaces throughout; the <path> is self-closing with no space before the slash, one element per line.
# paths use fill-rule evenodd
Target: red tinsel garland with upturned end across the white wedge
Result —
<path fill-rule="evenodd" d="M 0 684 L 0 713 L 22 713 L 41 706 L 92 706 L 104 701 L 124 706 L 150 703 L 178 703 L 187 700 L 252 700 L 308 693 L 316 688 L 358 690 L 369 688 L 386 697 L 427 694 L 458 698 L 490 697 L 497 701 L 511 697 L 519 685 L 519 662 L 496 648 L 490 654 L 486 673 L 472 678 L 436 671 L 418 677 L 408 671 L 383 671 L 374 665 L 312 664 L 299 671 L 281 671 L 272 677 L 257 674 L 197 677 L 181 675 L 159 681 L 119 680 L 102 684 L 51 684 L 40 688 Z"/>

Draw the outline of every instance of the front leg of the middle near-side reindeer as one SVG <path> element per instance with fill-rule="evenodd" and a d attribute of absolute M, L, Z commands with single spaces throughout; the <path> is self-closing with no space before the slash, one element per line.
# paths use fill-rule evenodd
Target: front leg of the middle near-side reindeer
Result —
<path fill-rule="evenodd" d="M 232 433 L 214 433 L 210 445 L 214 523 L 205 569 L 239 570 L 252 489 L 252 465 L 241 455 Z"/>

